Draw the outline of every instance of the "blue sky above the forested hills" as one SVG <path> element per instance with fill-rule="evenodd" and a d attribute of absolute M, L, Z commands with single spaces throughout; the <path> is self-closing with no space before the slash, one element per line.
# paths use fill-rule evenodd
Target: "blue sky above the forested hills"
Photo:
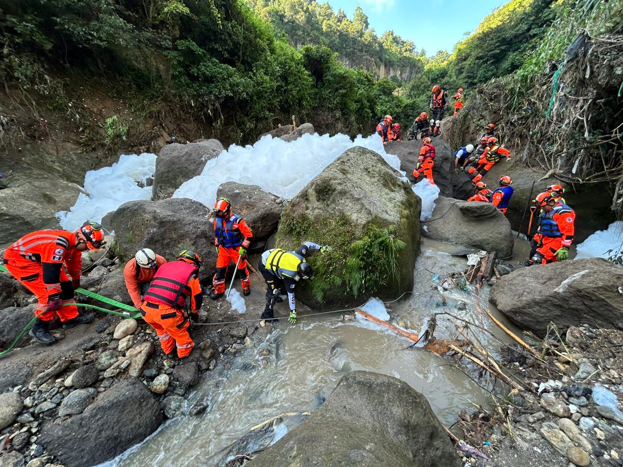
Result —
<path fill-rule="evenodd" d="M 355 7 L 361 6 L 377 35 L 392 29 L 403 39 L 412 40 L 417 50 L 424 47 L 429 56 L 437 50 L 452 52 L 464 32 L 473 31 L 493 8 L 507 1 L 328 0 L 333 11 L 341 8 L 350 19 Z"/>

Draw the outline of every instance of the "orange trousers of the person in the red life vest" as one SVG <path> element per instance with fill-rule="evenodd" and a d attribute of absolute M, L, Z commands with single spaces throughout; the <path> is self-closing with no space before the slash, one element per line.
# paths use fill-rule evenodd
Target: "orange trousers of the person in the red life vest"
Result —
<path fill-rule="evenodd" d="M 181 310 L 143 301 L 139 311 L 143 319 L 156 330 L 165 354 L 171 354 L 178 347 L 178 357 L 183 359 L 193 351 L 194 342 L 188 334 L 190 323 Z"/>

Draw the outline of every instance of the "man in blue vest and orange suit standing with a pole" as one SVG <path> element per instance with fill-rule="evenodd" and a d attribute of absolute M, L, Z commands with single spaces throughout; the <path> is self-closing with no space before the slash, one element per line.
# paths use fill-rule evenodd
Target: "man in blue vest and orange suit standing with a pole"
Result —
<path fill-rule="evenodd" d="M 220 197 L 212 209 L 214 219 L 214 245 L 218 258 L 216 260 L 216 274 L 212 279 L 214 292 L 210 295 L 217 300 L 225 293 L 225 276 L 230 262 L 238 263 L 237 274 L 240 276 L 242 293 L 251 293 L 251 280 L 247 270 L 247 248 L 251 243 L 253 233 L 242 217 L 235 215 L 231 210 L 231 203 L 226 197 Z M 240 262 L 238 258 L 240 257 Z"/>

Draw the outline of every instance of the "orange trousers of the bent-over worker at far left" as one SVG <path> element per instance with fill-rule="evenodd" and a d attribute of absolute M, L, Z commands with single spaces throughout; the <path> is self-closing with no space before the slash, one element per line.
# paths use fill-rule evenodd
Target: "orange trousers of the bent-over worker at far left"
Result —
<path fill-rule="evenodd" d="M 35 310 L 35 315 L 42 321 L 52 321 L 55 314 L 60 318 L 60 321 L 65 322 L 78 316 L 77 306 L 63 306 L 58 311 L 47 311 L 47 301 L 49 298 L 49 291 L 47 285 L 43 282 L 43 267 L 41 263 L 29 261 L 25 259 L 8 259 L 6 268 L 11 275 L 16 278 L 21 285 L 30 290 L 37 296 L 39 304 Z M 69 278 L 64 270 L 60 270 L 60 287 L 62 289 L 60 298 L 63 303 L 76 303 L 74 300 L 74 287 L 72 286 L 72 280 Z"/>

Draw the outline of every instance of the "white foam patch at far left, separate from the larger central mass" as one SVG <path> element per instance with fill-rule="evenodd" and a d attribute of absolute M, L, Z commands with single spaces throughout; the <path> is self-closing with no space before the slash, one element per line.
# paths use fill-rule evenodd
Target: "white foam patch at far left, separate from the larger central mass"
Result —
<path fill-rule="evenodd" d="M 60 226 L 75 230 L 85 221 L 102 222 L 108 212 L 116 210 L 121 204 L 136 200 L 150 199 L 151 187 L 141 188 L 136 183 L 145 185 L 147 177 L 156 170 L 156 154 L 123 154 L 119 162 L 110 167 L 90 170 L 85 174 L 84 189 L 76 204 L 69 211 L 60 211 Z"/>

